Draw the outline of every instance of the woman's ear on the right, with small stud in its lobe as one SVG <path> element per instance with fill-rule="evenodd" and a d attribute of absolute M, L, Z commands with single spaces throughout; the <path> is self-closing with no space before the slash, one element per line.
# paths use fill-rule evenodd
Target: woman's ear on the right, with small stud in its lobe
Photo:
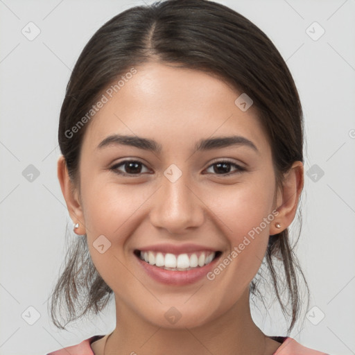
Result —
<path fill-rule="evenodd" d="M 291 225 L 297 211 L 297 205 L 304 185 L 304 167 L 302 162 L 294 162 L 284 174 L 282 187 L 277 191 L 276 207 L 279 214 L 270 226 L 270 235 L 278 234 Z M 280 228 L 276 224 L 281 225 Z"/>

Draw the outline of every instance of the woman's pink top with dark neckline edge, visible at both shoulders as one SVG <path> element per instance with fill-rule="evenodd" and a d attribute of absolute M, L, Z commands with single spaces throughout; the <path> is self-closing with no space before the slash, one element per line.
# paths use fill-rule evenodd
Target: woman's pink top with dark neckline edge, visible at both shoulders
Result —
<path fill-rule="evenodd" d="M 64 349 L 46 355 L 95 355 L 92 351 L 91 343 L 103 337 L 104 336 L 92 336 L 91 338 L 83 340 L 78 345 L 65 347 Z M 327 355 L 324 352 L 317 352 L 316 350 L 304 347 L 288 336 L 270 336 L 270 338 L 282 343 L 273 355 Z"/>

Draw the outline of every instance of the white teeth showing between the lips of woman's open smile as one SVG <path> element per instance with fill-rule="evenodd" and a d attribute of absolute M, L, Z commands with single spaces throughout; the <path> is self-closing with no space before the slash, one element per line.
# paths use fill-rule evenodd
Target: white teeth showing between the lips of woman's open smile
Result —
<path fill-rule="evenodd" d="M 142 261 L 161 268 L 163 270 L 188 271 L 202 268 L 214 259 L 218 258 L 222 252 L 190 252 L 184 254 L 171 254 L 154 251 L 135 250 L 135 255 Z"/>

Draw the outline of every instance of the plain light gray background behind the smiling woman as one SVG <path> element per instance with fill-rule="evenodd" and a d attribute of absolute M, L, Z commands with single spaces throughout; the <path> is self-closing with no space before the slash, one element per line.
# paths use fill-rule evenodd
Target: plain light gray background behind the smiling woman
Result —
<path fill-rule="evenodd" d="M 355 354 L 355 1 L 220 2 L 282 53 L 304 107 L 306 171 L 314 164 L 324 171 L 316 181 L 306 175 L 298 248 L 317 308 L 291 336 L 329 354 Z M 49 322 L 46 300 L 71 222 L 56 175 L 58 116 L 83 46 L 105 21 L 142 3 L 0 0 L 1 355 L 46 354 L 114 329 L 114 304 L 69 331 Z M 33 41 L 21 33 L 30 21 L 41 31 Z M 325 30 L 316 41 L 306 33 L 314 21 Z M 40 173 L 32 182 L 23 175 L 30 164 Z M 40 313 L 33 325 L 24 320 L 35 320 L 29 306 Z M 255 314 L 268 335 L 284 335 L 277 312 L 265 322 Z"/>

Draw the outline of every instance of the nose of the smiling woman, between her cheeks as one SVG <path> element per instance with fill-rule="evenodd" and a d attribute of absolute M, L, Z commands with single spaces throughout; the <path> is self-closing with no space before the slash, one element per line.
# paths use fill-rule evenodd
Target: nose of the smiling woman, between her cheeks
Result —
<path fill-rule="evenodd" d="M 204 204 L 184 175 L 175 182 L 163 176 L 162 185 L 153 196 L 150 223 L 171 234 L 191 232 L 205 218 Z"/>

